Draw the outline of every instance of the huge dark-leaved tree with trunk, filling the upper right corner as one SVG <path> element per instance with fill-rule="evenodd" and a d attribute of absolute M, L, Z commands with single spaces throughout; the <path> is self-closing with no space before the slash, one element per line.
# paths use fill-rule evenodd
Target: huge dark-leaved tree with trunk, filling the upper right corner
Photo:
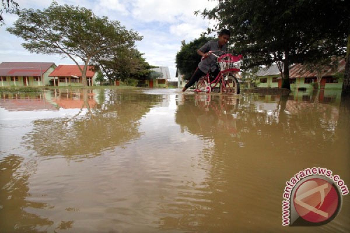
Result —
<path fill-rule="evenodd" d="M 218 21 L 208 33 L 231 30 L 235 50 L 245 54 L 248 66 L 283 64 L 282 87 L 290 89 L 289 65 L 344 55 L 348 12 L 344 0 L 223 0 L 196 14 Z"/>

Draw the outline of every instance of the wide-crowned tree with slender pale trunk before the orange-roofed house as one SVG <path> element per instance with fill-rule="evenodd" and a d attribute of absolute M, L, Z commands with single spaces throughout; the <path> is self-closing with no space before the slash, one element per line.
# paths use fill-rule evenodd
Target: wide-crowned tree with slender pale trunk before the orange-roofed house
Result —
<path fill-rule="evenodd" d="M 86 86 L 87 66 L 94 56 L 142 39 L 119 21 L 97 17 L 84 7 L 58 5 L 55 1 L 44 10 L 23 9 L 14 27 L 7 31 L 25 39 L 22 45 L 30 52 L 71 58 L 82 72 L 83 86 Z M 84 68 L 80 68 L 79 60 L 84 62 Z"/>

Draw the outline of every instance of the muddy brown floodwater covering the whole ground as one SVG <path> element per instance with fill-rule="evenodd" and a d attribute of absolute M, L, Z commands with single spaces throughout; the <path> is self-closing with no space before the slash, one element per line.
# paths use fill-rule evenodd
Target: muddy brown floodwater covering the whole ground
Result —
<path fill-rule="evenodd" d="M 349 232 L 283 227 L 286 181 L 350 187 L 349 102 L 179 89 L 1 94 L 0 232 Z"/>

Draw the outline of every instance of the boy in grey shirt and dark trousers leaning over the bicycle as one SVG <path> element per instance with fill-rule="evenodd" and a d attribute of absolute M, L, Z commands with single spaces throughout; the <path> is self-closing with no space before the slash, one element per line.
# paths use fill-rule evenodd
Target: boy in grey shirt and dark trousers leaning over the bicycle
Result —
<path fill-rule="evenodd" d="M 198 67 L 195 73 L 192 75 L 190 81 L 186 83 L 186 85 L 182 88 L 184 92 L 187 88 L 192 86 L 195 82 L 197 82 L 202 76 L 208 73 L 209 70 L 213 73 L 214 77 L 218 75 L 220 72 L 216 67 L 216 57 L 210 56 L 209 51 L 221 50 L 227 51 L 227 42 L 230 39 L 230 31 L 227 29 L 222 29 L 219 33 L 219 39 L 217 41 L 209 41 L 205 43 L 200 49 L 197 50 L 197 53 L 201 55 L 203 58 L 201 62 L 198 64 Z"/>

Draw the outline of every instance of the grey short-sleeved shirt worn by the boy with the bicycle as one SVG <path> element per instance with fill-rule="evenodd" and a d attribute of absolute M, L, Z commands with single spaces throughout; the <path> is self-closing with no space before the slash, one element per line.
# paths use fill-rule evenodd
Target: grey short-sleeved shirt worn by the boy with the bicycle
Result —
<path fill-rule="evenodd" d="M 199 50 L 201 50 L 203 53 L 207 53 L 209 51 L 215 51 L 215 50 L 221 50 L 221 51 L 226 52 L 227 45 L 224 44 L 222 46 L 222 48 L 219 48 L 218 41 L 208 41 Z M 215 71 L 216 61 L 217 61 L 217 58 L 214 55 L 210 55 L 209 57 L 205 58 L 204 60 L 201 60 L 201 62 L 198 64 L 198 68 L 201 71 L 203 71 L 204 73 L 207 73 L 209 70 Z"/>

